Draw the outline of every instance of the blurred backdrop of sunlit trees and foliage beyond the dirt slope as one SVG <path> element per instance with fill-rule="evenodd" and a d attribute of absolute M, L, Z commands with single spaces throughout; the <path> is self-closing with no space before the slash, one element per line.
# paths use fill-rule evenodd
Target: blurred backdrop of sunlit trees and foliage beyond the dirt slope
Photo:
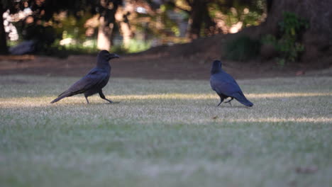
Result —
<path fill-rule="evenodd" d="M 111 49 L 128 52 L 217 33 L 236 33 L 264 18 L 263 0 L 1 0 L 1 15 L 18 30 L 19 40 L 38 40 L 45 46 Z M 23 12 L 23 13 L 22 13 Z M 3 20 L 0 20 L 4 23 Z M 7 21 L 8 22 L 8 21 Z M 8 24 L 8 23 L 7 23 Z M 4 24 L 1 52 L 6 53 Z M 2 31 L 1 31 L 2 30 Z M 2 32 L 2 33 L 1 33 Z M 114 47 L 116 49 L 116 47 Z"/>

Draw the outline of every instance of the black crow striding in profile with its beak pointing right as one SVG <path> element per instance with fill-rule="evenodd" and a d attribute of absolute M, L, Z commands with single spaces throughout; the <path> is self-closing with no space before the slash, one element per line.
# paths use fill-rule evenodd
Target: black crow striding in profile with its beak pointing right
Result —
<path fill-rule="evenodd" d="M 99 52 L 97 56 L 96 67 L 91 69 L 91 71 L 86 76 L 72 84 L 72 86 L 70 86 L 67 91 L 64 91 L 50 103 L 55 103 L 60 101 L 62 98 L 74 96 L 76 94 L 84 94 L 87 103 L 89 103 L 87 97 L 97 93 L 102 99 L 112 103 L 111 100 L 104 96 L 101 89 L 106 86 L 106 84 L 109 82 L 109 77 L 111 76 L 111 65 L 109 64 L 109 60 L 118 57 L 118 55 L 109 53 L 106 50 Z"/>

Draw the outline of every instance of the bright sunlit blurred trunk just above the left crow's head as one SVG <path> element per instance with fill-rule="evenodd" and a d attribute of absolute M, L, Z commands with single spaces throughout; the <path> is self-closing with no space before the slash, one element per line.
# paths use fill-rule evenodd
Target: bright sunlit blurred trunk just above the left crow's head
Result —
<path fill-rule="evenodd" d="M 110 50 L 113 28 L 114 23 L 108 23 L 105 21 L 104 16 L 100 16 L 97 38 L 97 47 L 99 50 Z"/>

